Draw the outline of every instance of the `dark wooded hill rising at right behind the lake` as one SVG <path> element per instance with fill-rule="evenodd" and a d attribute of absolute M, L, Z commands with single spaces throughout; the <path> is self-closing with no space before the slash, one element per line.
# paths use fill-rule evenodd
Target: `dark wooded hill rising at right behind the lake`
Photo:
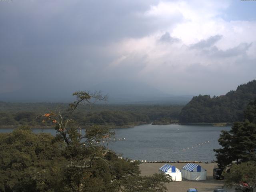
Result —
<path fill-rule="evenodd" d="M 182 108 L 180 122 L 235 122 L 244 118 L 243 110 L 256 98 L 256 80 L 238 86 L 223 96 L 199 95 Z"/>

